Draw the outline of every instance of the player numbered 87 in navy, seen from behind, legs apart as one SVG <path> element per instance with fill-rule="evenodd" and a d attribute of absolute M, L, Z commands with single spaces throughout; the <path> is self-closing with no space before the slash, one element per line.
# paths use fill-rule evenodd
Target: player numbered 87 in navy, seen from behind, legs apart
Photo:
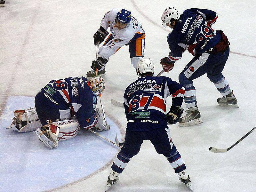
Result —
<path fill-rule="evenodd" d="M 140 76 L 124 92 L 124 109 L 127 127 L 124 146 L 112 164 L 107 190 L 119 178 L 130 159 L 139 153 L 143 140 L 150 140 L 157 153 L 163 154 L 180 175 L 180 181 L 191 185 L 186 166 L 172 142 L 168 124 L 175 124 L 182 115 L 180 108 L 185 89 L 169 77 L 154 77 L 154 64 L 150 59 L 141 59 L 137 66 Z M 172 107 L 165 115 L 166 98 L 172 95 Z"/>

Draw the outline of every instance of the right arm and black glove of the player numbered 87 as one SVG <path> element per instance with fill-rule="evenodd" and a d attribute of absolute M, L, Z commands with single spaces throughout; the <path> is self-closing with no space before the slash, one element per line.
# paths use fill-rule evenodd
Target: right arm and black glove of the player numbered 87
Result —
<path fill-rule="evenodd" d="M 184 110 L 180 107 L 184 99 L 185 88 L 181 84 L 172 81 L 169 77 L 165 77 L 165 80 L 168 87 L 166 96 L 172 95 L 172 106 L 166 114 L 166 118 L 169 124 L 175 124 L 179 121 Z"/>

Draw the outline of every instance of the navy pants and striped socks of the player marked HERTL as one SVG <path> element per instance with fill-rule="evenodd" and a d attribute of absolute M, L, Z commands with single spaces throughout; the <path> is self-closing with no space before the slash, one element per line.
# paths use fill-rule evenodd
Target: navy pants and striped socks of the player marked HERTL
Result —
<path fill-rule="evenodd" d="M 187 108 L 196 106 L 196 88 L 194 79 L 205 73 L 217 90 L 223 95 L 228 95 L 231 90 L 228 81 L 222 75 L 222 70 L 228 60 L 229 47 L 224 52 L 217 54 L 202 53 L 195 56 L 179 75 L 180 84 L 185 87 L 184 102 Z"/>

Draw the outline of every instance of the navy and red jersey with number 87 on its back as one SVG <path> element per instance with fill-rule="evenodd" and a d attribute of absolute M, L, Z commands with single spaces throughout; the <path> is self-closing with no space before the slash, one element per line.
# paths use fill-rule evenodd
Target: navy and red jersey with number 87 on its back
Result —
<path fill-rule="evenodd" d="M 145 76 L 130 84 L 124 92 L 127 130 L 150 131 L 166 128 L 166 98 L 172 95 L 172 105 L 181 106 L 185 88 L 165 76 Z"/>

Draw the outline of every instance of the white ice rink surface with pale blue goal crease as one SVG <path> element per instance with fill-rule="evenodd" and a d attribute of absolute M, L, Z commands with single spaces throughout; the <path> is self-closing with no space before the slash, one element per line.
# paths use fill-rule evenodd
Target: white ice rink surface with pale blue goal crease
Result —
<path fill-rule="evenodd" d="M 212 26 L 223 30 L 230 42 L 230 55 L 223 75 L 234 90 L 240 108 L 217 104 L 220 93 L 206 75 L 194 80 L 202 124 L 170 126 L 172 140 L 180 152 L 195 192 L 256 191 L 256 132 L 227 153 L 212 153 L 209 147 L 228 148 L 256 126 L 255 121 L 255 8 L 256 1 L 232 0 L 6 0 L 0 7 L 0 191 L 85 191 L 102 192 L 118 148 L 82 130 L 76 138 L 49 149 L 30 133 L 6 129 L 12 111 L 34 106 L 36 93 L 52 79 L 86 76 L 96 57 L 93 34 L 104 14 L 114 7 L 125 8 L 146 31 L 145 58 L 155 63 L 169 53 L 166 41 L 171 29 L 162 26 L 161 15 L 168 6 L 180 12 L 205 8 L 219 13 Z M 109 30 L 108 30 L 109 31 Z M 193 56 L 183 58 L 164 76 L 178 75 Z M 110 132 L 105 137 L 124 138 L 123 108 L 110 103 L 123 101 L 124 89 L 137 79 L 130 63 L 128 46 L 111 56 L 106 66 L 102 101 Z M 171 99 L 167 108 L 171 106 Z M 100 104 L 98 104 L 100 107 Z M 185 108 L 185 105 L 182 106 Z M 167 159 L 144 141 L 119 182 L 109 191 L 189 191 Z"/>

